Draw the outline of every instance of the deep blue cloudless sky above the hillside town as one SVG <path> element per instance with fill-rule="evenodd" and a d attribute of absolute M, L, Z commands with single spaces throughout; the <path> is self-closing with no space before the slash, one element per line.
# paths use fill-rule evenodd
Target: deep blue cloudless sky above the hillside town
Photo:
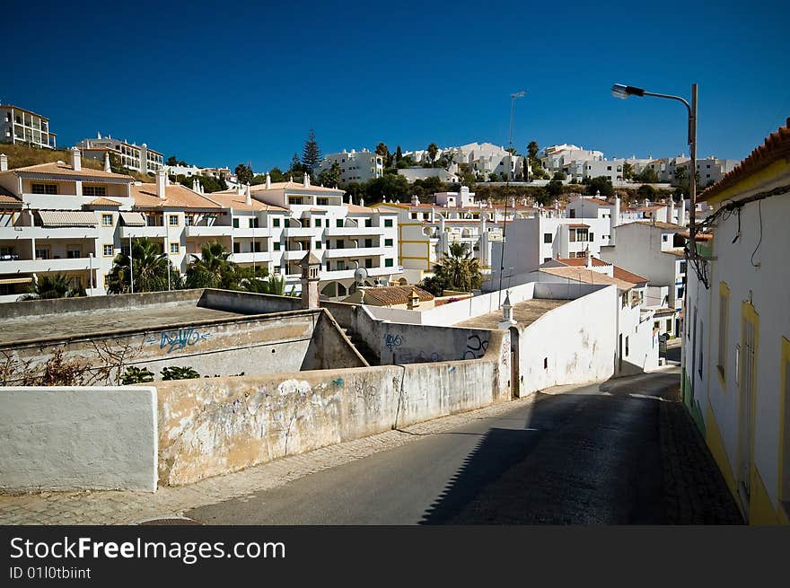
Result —
<path fill-rule="evenodd" d="M 615 100 L 615 82 L 697 82 L 699 156 L 741 159 L 790 116 L 786 2 L 34 4 L 4 5 L 0 101 L 48 116 L 61 146 L 99 131 L 265 171 L 311 128 L 325 153 L 506 145 L 526 90 L 520 151 L 688 154 L 680 103 Z"/>

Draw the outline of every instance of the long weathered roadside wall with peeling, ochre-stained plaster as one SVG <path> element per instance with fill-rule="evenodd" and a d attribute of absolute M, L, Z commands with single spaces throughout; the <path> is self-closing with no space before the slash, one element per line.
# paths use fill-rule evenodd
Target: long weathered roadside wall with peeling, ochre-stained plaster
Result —
<path fill-rule="evenodd" d="M 510 338 L 478 360 L 162 382 L 159 472 L 180 485 L 510 399 Z"/>

